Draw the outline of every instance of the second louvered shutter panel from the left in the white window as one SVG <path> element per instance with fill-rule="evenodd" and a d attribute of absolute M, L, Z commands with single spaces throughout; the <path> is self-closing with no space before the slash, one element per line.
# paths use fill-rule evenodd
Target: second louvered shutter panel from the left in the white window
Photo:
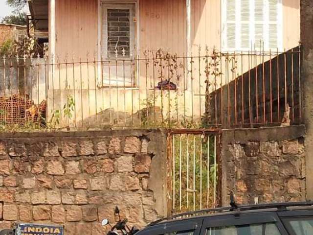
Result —
<path fill-rule="evenodd" d="M 241 48 L 250 48 L 250 1 L 241 0 Z"/>

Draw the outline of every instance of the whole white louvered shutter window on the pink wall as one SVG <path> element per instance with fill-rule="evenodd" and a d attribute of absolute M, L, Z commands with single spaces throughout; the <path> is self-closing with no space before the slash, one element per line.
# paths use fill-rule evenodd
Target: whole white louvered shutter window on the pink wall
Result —
<path fill-rule="evenodd" d="M 282 49 L 282 0 L 222 0 L 222 50 Z"/>

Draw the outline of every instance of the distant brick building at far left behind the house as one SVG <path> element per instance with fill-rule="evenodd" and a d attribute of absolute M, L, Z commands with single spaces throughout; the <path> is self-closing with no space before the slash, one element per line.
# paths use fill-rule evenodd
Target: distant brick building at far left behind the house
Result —
<path fill-rule="evenodd" d="M 26 36 L 26 26 L 16 24 L 0 24 L 0 45 L 7 40 L 19 41 Z"/>

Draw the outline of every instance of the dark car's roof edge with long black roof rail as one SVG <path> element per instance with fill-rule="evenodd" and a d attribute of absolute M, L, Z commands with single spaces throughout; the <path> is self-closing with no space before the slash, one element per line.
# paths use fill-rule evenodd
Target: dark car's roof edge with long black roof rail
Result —
<path fill-rule="evenodd" d="M 313 210 L 313 202 L 287 202 L 287 203 L 269 203 L 257 205 L 243 205 L 231 207 L 222 207 L 201 211 L 190 211 L 180 213 L 167 218 L 162 218 L 150 223 L 147 227 L 160 225 L 164 223 L 175 223 L 189 219 L 201 219 L 211 216 L 236 215 L 238 213 L 260 213 L 269 211 L 296 211 L 296 210 Z"/>

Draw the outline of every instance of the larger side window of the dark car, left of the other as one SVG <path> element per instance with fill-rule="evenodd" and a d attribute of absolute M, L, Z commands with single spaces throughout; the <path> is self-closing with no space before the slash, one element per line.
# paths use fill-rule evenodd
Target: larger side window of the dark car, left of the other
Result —
<path fill-rule="evenodd" d="M 206 235 L 281 235 L 276 224 L 250 224 L 209 228 Z"/>

